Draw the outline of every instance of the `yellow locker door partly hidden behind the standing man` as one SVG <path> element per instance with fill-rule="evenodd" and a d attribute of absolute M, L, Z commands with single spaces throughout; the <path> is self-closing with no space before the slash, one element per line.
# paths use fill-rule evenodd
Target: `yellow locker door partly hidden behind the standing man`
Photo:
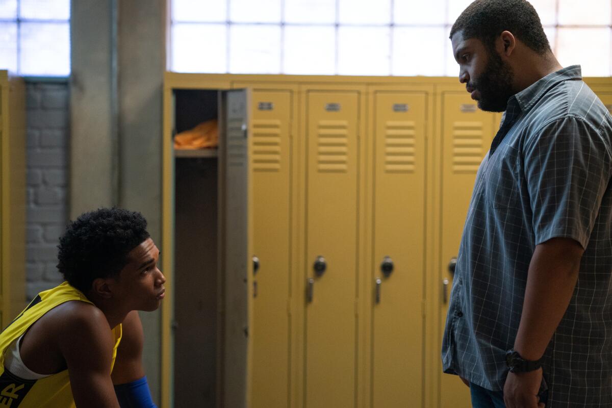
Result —
<path fill-rule="evenodd" d="M 439 264 L 443 270 L 440 335 L 452 287 L 452 263 L 457 257 L 476 172 L 499 128 L 499 115 L 481 111 L 465 91 L 442 92 L 441 102 Z M 442 373 L 440 376 L 441 408 L 470 407 L 468 387 L 457 376 Z"/>

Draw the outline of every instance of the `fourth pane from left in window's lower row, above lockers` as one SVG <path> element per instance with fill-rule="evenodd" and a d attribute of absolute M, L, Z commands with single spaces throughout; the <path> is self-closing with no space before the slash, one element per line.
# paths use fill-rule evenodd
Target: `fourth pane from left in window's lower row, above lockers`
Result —
<path fill-rule="evenodd" d="M 338 74 L 389 75 L 387 27 L 338 28 Z"/>

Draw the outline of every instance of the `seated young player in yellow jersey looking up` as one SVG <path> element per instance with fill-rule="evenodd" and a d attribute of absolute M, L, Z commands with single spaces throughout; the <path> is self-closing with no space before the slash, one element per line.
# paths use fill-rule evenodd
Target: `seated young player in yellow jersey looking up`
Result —
<path fill-rule="evenodd" d="M 65 282 L 0 333 L 0 407 L 154 408 L 138 310 L 159 308 L 159 250 L 138 212 L 100 209 L 59 239 Z"/>

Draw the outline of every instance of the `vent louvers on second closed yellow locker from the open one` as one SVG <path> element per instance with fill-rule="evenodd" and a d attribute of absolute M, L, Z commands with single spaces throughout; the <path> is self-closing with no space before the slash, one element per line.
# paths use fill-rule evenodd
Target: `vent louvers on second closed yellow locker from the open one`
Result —
<path fill-rule="evenodd" d="M 319 121 L 317 128 L 319 172 L 348 171 L 348 122 Z"/>

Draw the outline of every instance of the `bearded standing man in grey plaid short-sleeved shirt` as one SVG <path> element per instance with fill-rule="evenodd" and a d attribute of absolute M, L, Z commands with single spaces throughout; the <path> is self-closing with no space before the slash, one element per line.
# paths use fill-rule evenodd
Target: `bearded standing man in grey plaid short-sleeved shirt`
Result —
<path fill-rule="evenodd" d="M 472 2 L 450 39 L 479 108 L 506 113 L 469 205 L 444 372 L 474 407 L 612 407 L 610 113 L 525 0 Z"/>

